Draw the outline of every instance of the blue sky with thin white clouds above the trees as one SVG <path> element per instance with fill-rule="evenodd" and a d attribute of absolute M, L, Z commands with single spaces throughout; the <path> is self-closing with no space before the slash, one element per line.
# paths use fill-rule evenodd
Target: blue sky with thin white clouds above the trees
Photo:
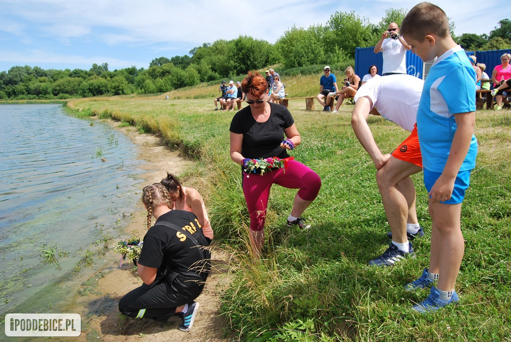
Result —
<path fill-rule="evenodd" d="M 279 0 L 0 0 L 0 72 L 15 65 L 42 69 L 147 69 L 158 57 L 189 53 L 204 42 L 240 35 L 270 43 L 293 26 L 326 25 L 336 11 L 355 11 L 378 24 L 389 8 L 419 1 Z M 499 1 L 436 3 L 454 21 L 455 34 L 489 34 L 511 17 Z M 484 8 L 481 5 L 484 4 Z M 342 36 L 339 37 L 342 39 Z"/>

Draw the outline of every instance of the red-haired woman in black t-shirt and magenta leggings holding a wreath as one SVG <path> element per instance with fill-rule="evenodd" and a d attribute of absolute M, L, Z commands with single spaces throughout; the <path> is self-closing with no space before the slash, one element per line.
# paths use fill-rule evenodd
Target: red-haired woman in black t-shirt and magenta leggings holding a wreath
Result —
<path fill-rule="evenodd" d="M 230 124 L 230 157 L 242 166 L 243 194 L 250 214 L 250 245 L 255 256 L 261 255 L 264 223 L 270 188 L 278 184 L 300 189 L 294 197 L 287 225 L 307 229 L 301 214 L 316 198 L 321 179 L 310 168 L 289 157 L 301 143 L 289 110 L 268 103 L 268 83 L 258 72 L 249 72 L 243 80 L 249 105 L 238 111 Z"/>

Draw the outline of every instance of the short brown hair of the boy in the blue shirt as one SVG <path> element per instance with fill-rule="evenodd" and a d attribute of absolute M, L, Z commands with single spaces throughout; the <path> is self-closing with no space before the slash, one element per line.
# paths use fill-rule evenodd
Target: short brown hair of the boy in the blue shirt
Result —
<path fill-rule="evenodd" d="M 428 34 L 434 34 L 440 38 L 451 35 L 446 12 L 427 2 L 413 6 L 401 22 L 400 32 L 402 36 L 406 35 L 418 42 L 422 42 Z"/>

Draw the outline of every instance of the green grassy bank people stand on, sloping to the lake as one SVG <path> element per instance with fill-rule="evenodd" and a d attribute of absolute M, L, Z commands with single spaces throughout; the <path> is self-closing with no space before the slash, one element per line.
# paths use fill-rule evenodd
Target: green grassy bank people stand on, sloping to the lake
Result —
<path fill-rule="evenodd" d="M 297 89 L 301 82 L 306 83 L 297 77 Z M 317 79 L 314 85 L 317 92 Z M 414 242 L 417 258 L 392 268 L 368 267 L 367 260 L 386 248 L 388 224 L 374 166 L 351 128 L 352 106 L 332 114 L 308 112 L 305 101 L 290 101 L 303 141 L 292 155 L 322 179 L 319 196 L 304 215 L 313 227 L 287 229 L 284 222 L 295 192 L 273 187 L 265 259 L 252 261 L 246 253 L 248 213 L 240 169 L 228 155 L 232 115 L 212 111 L 216 94 L 207 100 L 183 100 L 190 91 L 173 92 L 182 98 L 176 100 L 115 97 L 69 105 L 81 115 L 112 117 L 133 129 L 157 133 L 199 162 L 201 167 L 181 176 L 205 197 L 217 241 L 234 251 L 233 281 L 221 306 L 230 332 L 241 340 L 261 341 L 510 340 L 509 111 L 477 112 L 477 167 L 462 208 L 466 252 L 456 284 L 460 304 L 422 315 L 410 307 L 428 290 L 408 292 L 402 287 L 428 265 L 431 220 L 422 174 L 412 177 L 417 215 L 426 231 Z M 371 118 L 370 127 L 386 152 L 407 136 L 381 118 Z"/>

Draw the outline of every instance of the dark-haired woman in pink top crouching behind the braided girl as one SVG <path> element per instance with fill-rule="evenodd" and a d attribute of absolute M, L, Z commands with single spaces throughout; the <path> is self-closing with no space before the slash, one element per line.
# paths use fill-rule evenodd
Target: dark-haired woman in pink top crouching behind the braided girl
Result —
<path fill-rule="evenodd" d="M 211 243 L 213 230 L 211 229 L 210 219 L 207 217 L 204 200 L 199 192 L 193 188 L 181 186 L 176 176 L 168 172 L 167 178 L 162 179 L 160 183 L 169 191 L 170 199 L 174 202 L 174 209 L 189 211 L 197 216 L 204 237 L 207 242 Z"/>

